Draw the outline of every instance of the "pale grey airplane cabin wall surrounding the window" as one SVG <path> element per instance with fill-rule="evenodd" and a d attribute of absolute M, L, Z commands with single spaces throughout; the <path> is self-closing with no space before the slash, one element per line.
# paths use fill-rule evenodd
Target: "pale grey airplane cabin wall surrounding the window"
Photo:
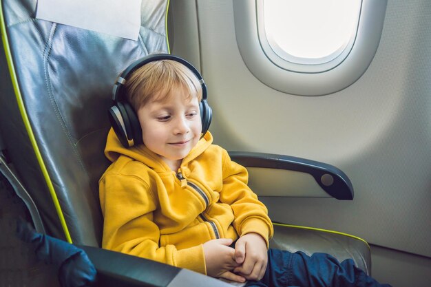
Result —
<path fill-rule="evenodd" d="M 327 162 L 353 183 L 353 201 L 261 198 L 271 218 L 364 238 L 373 275 L 394 287 L 431 286 L 430 14 L 428 0 L 388 1 L 368 70 L 326 96 L 278 92 L 251 74 L 231 0 L 171 1 L 169 16 L 172 53 L 207 83 L 215 143 Z"/>

